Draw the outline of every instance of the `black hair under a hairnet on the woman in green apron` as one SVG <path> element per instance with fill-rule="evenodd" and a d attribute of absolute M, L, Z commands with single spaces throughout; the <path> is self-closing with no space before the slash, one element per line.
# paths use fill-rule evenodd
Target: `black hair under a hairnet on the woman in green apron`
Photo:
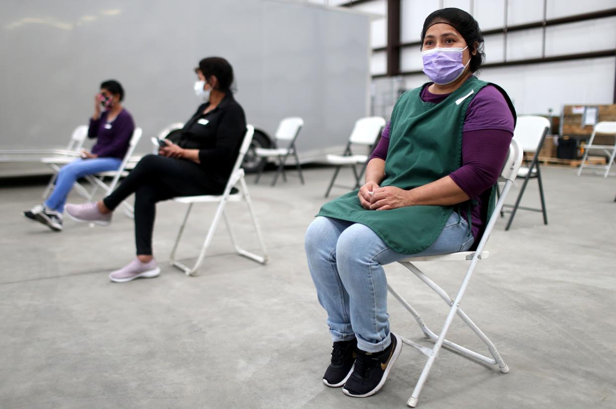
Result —
<path fill-rule="evenodd" d="M 447 7 L 446 9 L 440 9 L 432 12 L 426 21 L 424 21 L 424 27 L 421 29 L 421 47 L 423 48 L 424 38 L 426 37 L 426 31 L 432 25 L 436 23 L 447 23 L 452 26 L 466 41 L 466 45 L 471 50 L 471 62 L 469 64 L 471 72 L 476 72 L 481 67 L 481 64 L 485 59 L 484 52 L 484 36 L 479 28 L 477 20 L 473 19 L 472 15 L 468 14 L 464 10 L 456 9 L 455 7 Z M 475 43 L 477 43 L 477 49 L 475 49 Z M 477 51 L 473 56 L 472 51 Z"/>

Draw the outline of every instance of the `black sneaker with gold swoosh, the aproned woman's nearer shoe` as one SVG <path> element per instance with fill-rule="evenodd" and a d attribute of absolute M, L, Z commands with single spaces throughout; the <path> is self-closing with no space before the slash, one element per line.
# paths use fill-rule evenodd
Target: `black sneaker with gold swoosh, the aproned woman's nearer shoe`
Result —
<path fill-rule="evenodd" d="M 345 395 L 364 398 L 376 394 L 383 387 L 389 370 L 402 351 L 400 337 L 394 333 L 390 336 L 391 344 L 383 352 L 357 350 L 355 369 L 342 388 Z"/>

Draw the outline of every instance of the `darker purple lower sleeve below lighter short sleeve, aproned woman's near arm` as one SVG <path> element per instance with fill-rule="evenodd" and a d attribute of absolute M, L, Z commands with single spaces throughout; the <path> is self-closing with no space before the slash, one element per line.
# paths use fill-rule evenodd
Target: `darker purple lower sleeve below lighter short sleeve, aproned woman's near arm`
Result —
<path fill-rule="evenodd" d="M 471 199 L 498 180 L 511 138 L 513 133 L 500 129 L 462 134 L 462 166 L 449 176 Z"/>

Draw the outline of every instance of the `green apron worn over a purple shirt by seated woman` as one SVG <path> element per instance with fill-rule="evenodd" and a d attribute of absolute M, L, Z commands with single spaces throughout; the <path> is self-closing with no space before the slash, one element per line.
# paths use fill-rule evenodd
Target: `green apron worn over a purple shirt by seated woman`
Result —
<path fill-rule="evenodd" d="M 471 76 L 439 104 L 421 101 L 420 94 L 425 85 L 403 94 L 391 115 L 386 177 L 379 186 L 409 190 L 439 180 L 460 168 L 466 109 L 479 90 L 488 84 Z M 515 118 L 511 100 L 503 89 L 496 88 L 503 93 Z M 469 212 L 471 206 L 469 200 L 455 206 L 367 210 L 360 204 L 357 192 L 359 190 L 324 204 L 317 216 L 366 225 L 389 248 L 402 254 L 416 254 L 430 247 L 452 211 L 457 209 L 460 212 L 465 208 Z M 488 215 L 494 209 L 495 193 L 493 186 Z"/>

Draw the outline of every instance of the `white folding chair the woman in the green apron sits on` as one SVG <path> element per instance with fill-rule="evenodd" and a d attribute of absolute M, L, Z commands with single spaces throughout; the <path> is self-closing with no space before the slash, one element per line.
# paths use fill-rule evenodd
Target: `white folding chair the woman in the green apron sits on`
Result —
<path fill-rule="evenodd" d="M 423 371 L 421 371 L 419 380 L 417 381 L 417 384 L 415 385 L 413 394 L 411 394 L 411 397 L 407 401 L 407 405 L 410 407 L 413 407 L 413 408 L 416 407 L 418 403 L 418 399 L 419 399 L 419 393 L 421 392 L 421 388 L 424 386 L 424 382 L 426 382 L 426 379 L 428 378 L 428 373 L 430 372 L 430 369 L 432 368 L 434 361 L 439 356 L 440 349 L 443 346 L 448 349 L 454 350 L 455 352 L 461 353 L 462 355 L 466 357 L 477 360 L 480 363 L 498 366 L 498 369 L 502 373 L 509 372 L 509 367 L 505 364 L 505 361 L 503 361 L 503 358 L 501 358 L 500 354 L 498 353 L 498 350 L 496 350 L 496 347 L 494 346 L 494 344 L 492 344 L 492 341 L 490 341 L 490 339 L 488 339 L 488 337 L 485 336 L 485 334 L 479 329 L 479 327 L 477 327 L 477 325 L 471 321 L 471 318 L 469 318 L 469 316 L 463 312 L 463 310 L 460 308 L 460 303 L 462 301 L 462 297 L 464 296 L 464 292 L 466 291 L 466 287 L 468 286 L 468 283 L 471 279 L 472 273 L 475 270 L 475 266 L 477 265 L 477 262 L 479 260 L 484 260 L 485 258 L 488 258 L 489 252 L 484 251 L 485 243 L 488 241 L 488 238 L 490 238 L 490 233 L 492 233 L 492 229 L 494 227 L 494 224 L 496 223 L 498 214 L 500 213 L 500 210 L 503 207 L 503 201 L 505 200 L 505 197 L 507 196 L 509 189 L 511 189 L 511 185 L 513 184 L 513 181 L 516 178 L 521 162 L 522 162 L 522 148 L 519 142 L 516 141 L 516 139 L 513 139 L 511 141 L 511 146 L 509 147 L 508 158 L 505 162 L 505 166 L 503 167 L 503 170 L 501 171 L 500 179 L 501 181 L 505 181 L 505 187 L 503 188 L 503 191 L 501 192 L 500 199 L 498 199 L 498 202 L 496 202 L 496 208 L 494 209 L 492 216 L 488 220 L 487 226 L 485 227 L 484 234 L 479 241 L 479 246 L 477 246 L 477 250 L 457 252 L 457 253 L 451 253 L 451 254 L 424 256 L 424 257 L 408 257 L 403 260 L 400 260 L 399 262 L 400 264 L 408 268 L 408 270 L 410 270 L 413 274 L 415 274 L 419 279 L 421 279 L 423 283 L 427 284 L 428 287 L 430 287 L 434 292 L 436 292 L 445 301 L 445 303 L 450 306 L 449 312 L 447 314 L 447 318 L 445 318 L 445 323 L 442 329 L 440 330 L 439 334 L 434 333 L 431 329 L 429 329 L 428 326 L 424 323 L 424 321 L 419 316 L 419 313 L 416 312 L 415 308 L 411 307 L 411 305 L 407 302 L 407 300 L 403 299 L 402 295 L 400 295 L 389 284 L 387 284 L 387 289 L 389 289 L 389 292 L 392 295 L 394 295 L 395 299 L 397 299 L 400 302 L 400 304 L 402 304 L 403 307 L 405 307 L 408 310 L 408 312 L 411 313 L 413 318 L 415 318 L 415 321 L 417 321 L 417 323 L 419 324 L 419 327 L 421 328 L 421 331 L 423 331 L 424 336 L 428 339 L 431 339 L 431 341 L 435 342 L 434 346 L 432 348 L 429 348 L 424 345 L 418 344 L 417 342 L 411 341 L 410 339 L 407 339 L 405 337 L 401 337 L 403 344 L 409 345 L 415 348 L 416 350 L 419 350 L 419 352 L 423 353 L 424 355 L 428 357 L 428 361 L 426 362 L 426 365 L 424 366 Z M 447 292 L 444 291 L 444 289 L 437 286 L 437 284 L 434 283 L 434 281 L 428 278 L 428 276 L 425 275 L 423 271 L 419 270 L 419 268 L 417 268 L 414 264 L 416 262 L 445 262 L 445 261 L 460 261 L 460 262 L 470 261 L 471 262 L 471 264 L 468 266 L 466 270 L 466 275 L 464 276 L 460 289 L 458 289 L 458 293 L 456 294 L 455 299 L 452 299 L 452 297 L 450 297 L 450 295 L 448 295 Z M 479 339 L 483 341 L 485 345 L 487 345 L 488 350 L 490 351 L 490 355 L 492 355 L 491 358 L 486 357 L 485 355 L 474 352 L 470 349 L 467 349 L 461 345 L 455 344 L 445 339 L 445 336 L 447 335 L 447 331 L 450 325 L 452 324 L 453 316 L 455 316 L 456 314 L 460 316 L 462 321 L 464 321 L 464 323 L 468 325 L 469 328 L 472 329 L 472 331 L 479 337 Z"/>

